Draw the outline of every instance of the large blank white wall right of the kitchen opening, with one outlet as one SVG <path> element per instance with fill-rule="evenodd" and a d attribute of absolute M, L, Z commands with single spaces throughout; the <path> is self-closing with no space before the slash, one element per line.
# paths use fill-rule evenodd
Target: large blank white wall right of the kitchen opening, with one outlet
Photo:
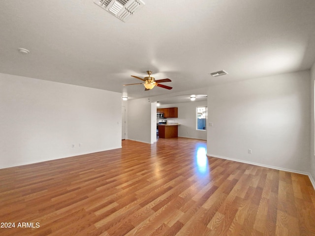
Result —
<path fill-rule="evenodd" d="M 210 87 L 208 155 L 309 172 L 310 86 L 308 70 Z"/>

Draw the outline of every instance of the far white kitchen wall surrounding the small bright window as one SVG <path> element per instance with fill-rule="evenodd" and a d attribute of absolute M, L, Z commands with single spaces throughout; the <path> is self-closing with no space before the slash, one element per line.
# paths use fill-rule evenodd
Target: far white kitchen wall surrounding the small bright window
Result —
<path fill-rule="evenodd" d="M 168 122 L 175 122 L 180 124 L 178 126 L 179 137 L 207 140 L 206 130 L 196 130 L 196 107 L 206 106 L 207 101 L 200 101 L 161 105 L 160 108 L 178 108 L 178 118 L 167 118 L 167 120 Z"/>

